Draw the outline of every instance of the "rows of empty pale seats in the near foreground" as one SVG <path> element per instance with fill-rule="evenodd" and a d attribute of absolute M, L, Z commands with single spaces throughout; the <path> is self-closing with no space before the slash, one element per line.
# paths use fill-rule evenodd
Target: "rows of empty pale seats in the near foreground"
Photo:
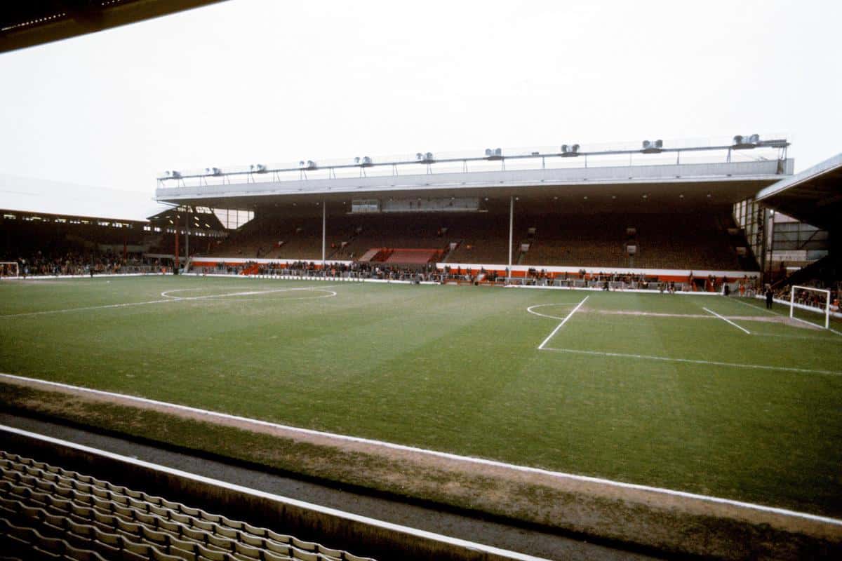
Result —
<path fill-rule="evenodd" d="M 19 559 L 368 559 L 3 451 L 0 542 Z"/>

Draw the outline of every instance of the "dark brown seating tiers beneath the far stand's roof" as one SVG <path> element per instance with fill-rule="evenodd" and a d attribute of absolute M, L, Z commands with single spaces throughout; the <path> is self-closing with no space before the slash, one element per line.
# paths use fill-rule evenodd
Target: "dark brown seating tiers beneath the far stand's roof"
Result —
<path fill-rule="evenodd" d="M 627 234 L 634 228 L 633 236 Z M 513 262 L 518 265 L 754 270 L 754 257 L 738 257 L 744 237 L 729 234 L 729 209 L 680 214 L 520 214 L 514 220 Z M 283 245 L 279 246 L 279 241 Z M 634 241 L 630 258 L 626 243 Z M 528 244 L 527 251 L 521 245 Z M 451 250 L 450 247 L 454 248 Z M 500 265 L 509 259 L 509 215 L 342 214 L 328 217 L 326 257 L 360 260 L 373 248 L 438 249 L 447 263 Z M 210 257 L 322 257 L 321 217 L 255 219 Z M 412 254 L 397 253 L 390 262 Z"/>

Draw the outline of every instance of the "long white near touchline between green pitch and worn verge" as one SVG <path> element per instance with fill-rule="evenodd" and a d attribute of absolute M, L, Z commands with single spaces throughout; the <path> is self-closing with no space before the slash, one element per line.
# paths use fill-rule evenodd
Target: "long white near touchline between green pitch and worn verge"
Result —
<path fill-rule="evenodd" d="M 552 351 L 558 351 L 563 349 L 549 349 Z M 634 355 L 626 355 L 626 356 L 634 356 Z M 716 364 L 716 363 L 714 363 Z M 735 365 L 740 366 L 740 365 Z M 764 367 L 770 368 L 770 367 Z M 393 450 L 402 450 L 406 452 L 414 452 L 414 453 L 422 453 L 428 454 L 430 456 L 435 456 L 438 458 L 447 458 L 451 460 L 467 462 L 467 463 L 479 463 L 482 465 L 489 465 L 494 466 L 497 468 L 509 468 L 514 469 L 521 472 L 531 473 L 531 474 L 541 474 L 541 475 L 549 475 L 551 477 L 557 477 L 559 479 L 573 479 L 574 481 L 586 481 L 589 483 L 597 483 L 597 484 L 605 484 L 610 485 L 612 487 L 621 487 L 623 489 L 635 489 L 635 490 L 642 490 L 642 491 L 649 491 L 653 493 L 660 493 L 663 495 L 672 495 L 672 496 L 679 496 L 685 497 L 688 499 L 695 499 L 695 500 L 705 500 L 707 502 L 718 503 L 722 505 L 734 505 L 739 506 L 742 508 L 752 509 L 754 511 L 763 511 L 763 512 L 772 512 L 775 514 L 780 514 L 783 516 L 793 516 L 797 518 L 804 518 L 807 520 L 825 522 L 828 524 L 834 524 L 835 526 L 842 526 L 842 520 L 836 518 L 829 518 L 828 516 L 818 516 L 814 514 L 809 514 L 807 512 L 798 512 L 798 511 L 790 511 L 787 509 L 777 508 L 775 506 L 766 506 L 766 505 L 756 505 L 754 503 L 743 502 L 741 500 L 733 500 L 733 499 L 723 499 L 722 497 L 714 497 L 710 495 L 696 495 L 695 493 L 688 493 L 686 491 L 678 491 L 672 489 L 663 489 L 663 487 L 650 487 L 649 485 L 641 485 L 635 483 L 625 483 L 623 481 L 614 481 L 612 479 L 602 479 L 598 477 L 590 477 L 589 475 L 578 475 L 578 474 L 567 474 L 564 472 L 558 471 L 551 471 L 549 469 L 542 469 L 542 468 L 530 468 L 529 466 L 520 466 L 514 463 L 505 463 L 505 462 L 498 462 L 497 460 L 489 460 L 486 458 L 473 458 L 472 456 L 460 456 L 458 454 L 448 453 L 448 452 L 438 452 L 436 450 L 429 450 L 427 448 L 418 448 L 414 446 L 407 446 L 404 444 L 395 444 L 393 442 L 384 442 L 380 440 L 373 440 L 370 438 L 362 438 L 362 437 L 350 437 L 348 435 L 336 434 L 333 432 L 326 432 L 326 431 L 315 431 L 313 429 L 305 429 L 299 426 L 289 426 L 289 425 L 280 425 L 278 423 L 273 423 L 269 421 L 260 421 L 259 419 L 249 419 L 248 417 L 242 417 L 239 415 L 230 415 L 228 413 L 217 413 L 216 411 L 209 411 L 205 409 L 199 409 L 197 407 L 190 407 L 189 405 L 178 405 L 173 403 L 167 403 L 166 401 L 157 401 L 157 400 L 149 400 L 143 397 L 136 397 L 134 395 L 125 395 L 125 394 L 116 394 L 114 392 L 107 392 L 103 391 L 102 389 L 89 389 L 83 388 L 81 386 L 73 386 L 71 384 L 61 384 L 61 382 L 50 382 L 48 380 L 40 380 L 38 378 L 26 378 L 25 376 L 18 376 L 16 374 L 6 374 L 0 373 L 0 378 L 13 378 L 19 380 L 25 380 L 27 382 L 35 382 L 36 384 L 45 384 L 56 386 L 58 388 L 67 388 L 73 389 L 76 391 L 88 392 L 91 394 L 99 394 L 99 395 L 107 395 L 109 397 L 116 397 L 122 400 L 133 400 L 140 403 L 148 403 L 152 405 L 164 405 L 166 407 L 170 407 L 176 410 L 184 410 L 184 411 L 191 411 L 193 413 L 200 413 L 202 415 L 208 415 L 210 417 L 219 417 L 221 419 L 231 419 L 234 421 L 247 421 L 249 423 L 253 423 L 255 425 L 261 426 L 270 426 L 273 428 L 282 429 L 285 431 L 292 431 L 292 432 L 300 432 L 301 434 L 308 434 L 308 435 L 317 435 L 319 437 L 329 437 L 329 438 L 336 438 L 338 440 L 344 440 L 346 442 L 360 442 L 363 444 L 373 444 L 376 446 L 392 448 Z"/>

